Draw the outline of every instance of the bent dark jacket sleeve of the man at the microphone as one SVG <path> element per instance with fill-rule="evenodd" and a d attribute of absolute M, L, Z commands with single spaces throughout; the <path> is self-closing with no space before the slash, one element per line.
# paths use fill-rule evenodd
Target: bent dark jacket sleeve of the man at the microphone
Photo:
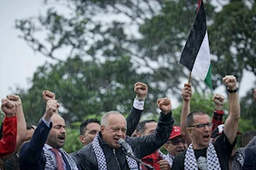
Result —
<path fill-rule="evenodd" d="M 158 150 L 160 146 L 166 143 L 172 133 L 172 124 L 172 112 L 166 115 L 160 113 L 160 119 L 153 134 L 138 138 L 127 137 L 126 140 L 131 144 L 135 155 L 141 159 L 143 156 L 148 156 Z"/>

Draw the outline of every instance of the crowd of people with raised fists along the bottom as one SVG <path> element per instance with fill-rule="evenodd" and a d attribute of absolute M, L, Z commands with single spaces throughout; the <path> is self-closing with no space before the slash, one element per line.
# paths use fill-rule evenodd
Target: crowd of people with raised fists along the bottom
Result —
<path fill-rule="evenodd" d="M 99 121 L 84 120 L 80 125 L 80 150 L 67 153 L 65 120 L 59 115 L 55 94 L 43 92 L 46 102 L 38 126 L 26 124 L 21 99 L 8 95 L 2 99 L 5 114 L 1 127 L 0 168 L 6 170 L 248 170 L 256 169 L 256 131 L 238 130 L 240 104 L 236 77 L 223 77 L 229 93 L 229 114 L 225 122 L 224 96 L 214 94 L 212 118 L 205 111 L 190 111 L 191 84 L 181 91 L 183 107 L 179 126 L 174 126 L 172 101 L 157 100 L 159 120 L 140 122 L 148 86 L 134 85 L 137 94 L 129 116 L 108 111 Z M 256 88 L 253 91 L 256 100 Z M 241 148 L 236 135 L 241 134 Z M 160 147 L 164 147 L 164 154 Z"/>

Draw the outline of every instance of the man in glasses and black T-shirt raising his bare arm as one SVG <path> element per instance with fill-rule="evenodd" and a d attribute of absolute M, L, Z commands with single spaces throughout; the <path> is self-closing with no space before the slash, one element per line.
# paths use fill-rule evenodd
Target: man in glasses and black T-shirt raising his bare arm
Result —
<path fill-rule="evenodd" d="M 193 111 L 187 116 L 187 130 L 192 139 L 187 150 L 177 155 L 172 169 L 229 169 L 229 158 L 236 144 L 236 132 L 240 118 L 236 77 L 226 76 L 223 81 L 229 92 L 229 116 L 221 133 L 214 143 L 211 143 L 212 122 L 204 111 Z"/>

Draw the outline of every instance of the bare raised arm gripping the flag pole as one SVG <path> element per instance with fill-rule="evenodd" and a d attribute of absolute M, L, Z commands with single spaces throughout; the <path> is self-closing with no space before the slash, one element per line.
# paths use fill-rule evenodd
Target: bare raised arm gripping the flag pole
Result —
<path fill-rule="evenodd" d="M 185 139 L 187 144 L 192 142 L 189 133 L 187 132 L 187 116 L 190 113 L 190 100 L 192 96 L 192 89 L 189 83 L 184 84 L 184 88 L 182 90 L 182 97 L 183 97 L 183 108 L 180 116 L 180 127 L 182 131 L 183 138 Z"/>

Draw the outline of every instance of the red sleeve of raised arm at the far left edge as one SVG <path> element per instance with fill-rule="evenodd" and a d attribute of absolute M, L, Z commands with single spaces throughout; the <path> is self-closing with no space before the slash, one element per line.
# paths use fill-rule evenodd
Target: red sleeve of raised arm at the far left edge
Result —
<path fill-rule="evenodd" d="M 17 136 L 17 118 L 5 117 L 3 120 L 3 138 L 0 140 L 0 157 L 15 151 Z"/>

